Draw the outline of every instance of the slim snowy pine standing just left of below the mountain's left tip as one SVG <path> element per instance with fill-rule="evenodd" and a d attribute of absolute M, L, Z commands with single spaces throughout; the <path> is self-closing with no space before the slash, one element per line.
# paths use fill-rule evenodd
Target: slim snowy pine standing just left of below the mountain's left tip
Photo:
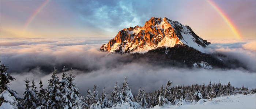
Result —
<path fill-rule="evenodd" d="M 101 109 L 101 101 L 99 99 L 99 92 L 97 91 L 97 86 L 94 85 L 93 87 L 93 93 L 92 93 L 92 97 L 93 97 L 93 104 L 91 104 L 91 109 Z"/>

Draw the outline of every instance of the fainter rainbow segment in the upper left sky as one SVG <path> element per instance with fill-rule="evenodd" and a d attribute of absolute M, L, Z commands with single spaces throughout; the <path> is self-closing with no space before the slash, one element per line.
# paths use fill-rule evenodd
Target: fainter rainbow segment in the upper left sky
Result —
<path fill-rule="evenodd" d="M 26 31 L 27 26 L 29 26 L 29 24 L 31 23 L 31 21 L 34 20 L 35 16 L 37 16 L 37 14 L 45 7 L 45 5 L 49 2 L 50 0 L 45 0 L 29 17 L 29 19 L 27 19 L 26 24 L 23 27 L 23 31 Z"/>

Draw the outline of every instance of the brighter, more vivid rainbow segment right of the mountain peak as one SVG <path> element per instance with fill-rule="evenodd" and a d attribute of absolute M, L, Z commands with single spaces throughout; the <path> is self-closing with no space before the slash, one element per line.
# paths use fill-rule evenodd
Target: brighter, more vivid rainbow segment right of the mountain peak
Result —
<path fill-rule="evenodd" d="M 207 2 L 221 15 L 221 17 L 226 21 L 226 23 L 229 25 L 229 27 L 232 29 L 234 34 L 238 37 L 238 39 L 241 39 L 242 37 L 240 36 L 237 28 L 235 25 L 231 22 L 229 17 L 219 8 L 212 0 L 207 0 Z"/>

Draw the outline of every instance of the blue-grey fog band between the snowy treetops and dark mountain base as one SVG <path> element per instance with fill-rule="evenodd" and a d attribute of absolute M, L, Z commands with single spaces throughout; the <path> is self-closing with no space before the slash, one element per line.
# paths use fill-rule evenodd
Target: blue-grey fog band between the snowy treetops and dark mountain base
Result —
<path fill-rule="evenodd" d="M 162 68 L 153 65 L 141 65 L 131 63 L 121 65 L 117 68 L 102 68 L 99 70 L 85 73 L 80 70 L 73 70 L 76 75 L 75 84 L 79 88 L 81 95 L 86 95 L 88 88 L 92 89 L 94 85 L 99 88 L 101 93 L 103 87 L 107 92 L 111 93 L 115 82 L 118 82 L 120 87 L 124 77 L 128 77 L 129 87 L 132 93 L 138 93 L 139 88 L 146 89 L 147 92 L 158 90 L 161 85 L 165 85 L 168 80 L 173 81 L 172 86 L 176 85 L 191 85 L 191 84 L 208 84 L 209 81 L 217 83 L 219 80 L 222 84 L 227 84 L 241 87 L 242 85 L 255 88 L 255 73 L 249 73 L 246 70 L 223 70 L 223 69 L 199 69 L 199 68 Z M 25 80 L 27 77 L 35 79 L 36 83 L 41 79 L 44 86 L 47 86 L 51 74 L 43 75 L 39 68 L 35 68 L 24 74 L 14 74 L 17 80 L 11 82 L 11 88 L 23 93 L 25 89 Z M 67 71 L 69 73 L 70 71 Z M 58 74 L 61 77 L 61 73 Z"/>

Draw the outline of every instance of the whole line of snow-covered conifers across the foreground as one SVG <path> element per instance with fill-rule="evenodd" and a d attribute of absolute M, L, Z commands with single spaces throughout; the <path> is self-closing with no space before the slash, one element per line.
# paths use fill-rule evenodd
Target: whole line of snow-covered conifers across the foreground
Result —
<path fill-rule="evenodd" d="M 87 96 L 79 96 L 79 89 L 74 84 L 75 76 L 72 75 L 72 68 L 69 74 L 62 69 L 61 79 L 56 75 L 54 68 L 51 78 L 48 80 L 47 89 L 43 88 L 42 81 L 39 81 L 39 88 L 35 81 L 28 78 L 25 82 L 23 97 L 19 97 L 15 90 L 7 85 L 15 80 L 7 73 L 7 66 L 1 63 L 0 74 L 0 109 L 102 109 L 102 108 L 153 108 L 154 106 L 182 105 L 184 102 L 196 103 L 201 99 L 211 100 L 219 96 L 235 94 L 255 93 L 256 89 L 236 88 L 228 84 L 210 83 L 208 85 L 193 84 L 188 86 L 171 86 L 168 81 L 159 90 L 147 93 L 145 89 L 139 89 L 138 95 L 133 96 L 128 86 L 127 78 L 121 84 L 116 82 L 113 91 L 107 93 L 105 88 L 101 96 L 97 91 L 97 85 L 93 90 L 87 90 Z"/>

